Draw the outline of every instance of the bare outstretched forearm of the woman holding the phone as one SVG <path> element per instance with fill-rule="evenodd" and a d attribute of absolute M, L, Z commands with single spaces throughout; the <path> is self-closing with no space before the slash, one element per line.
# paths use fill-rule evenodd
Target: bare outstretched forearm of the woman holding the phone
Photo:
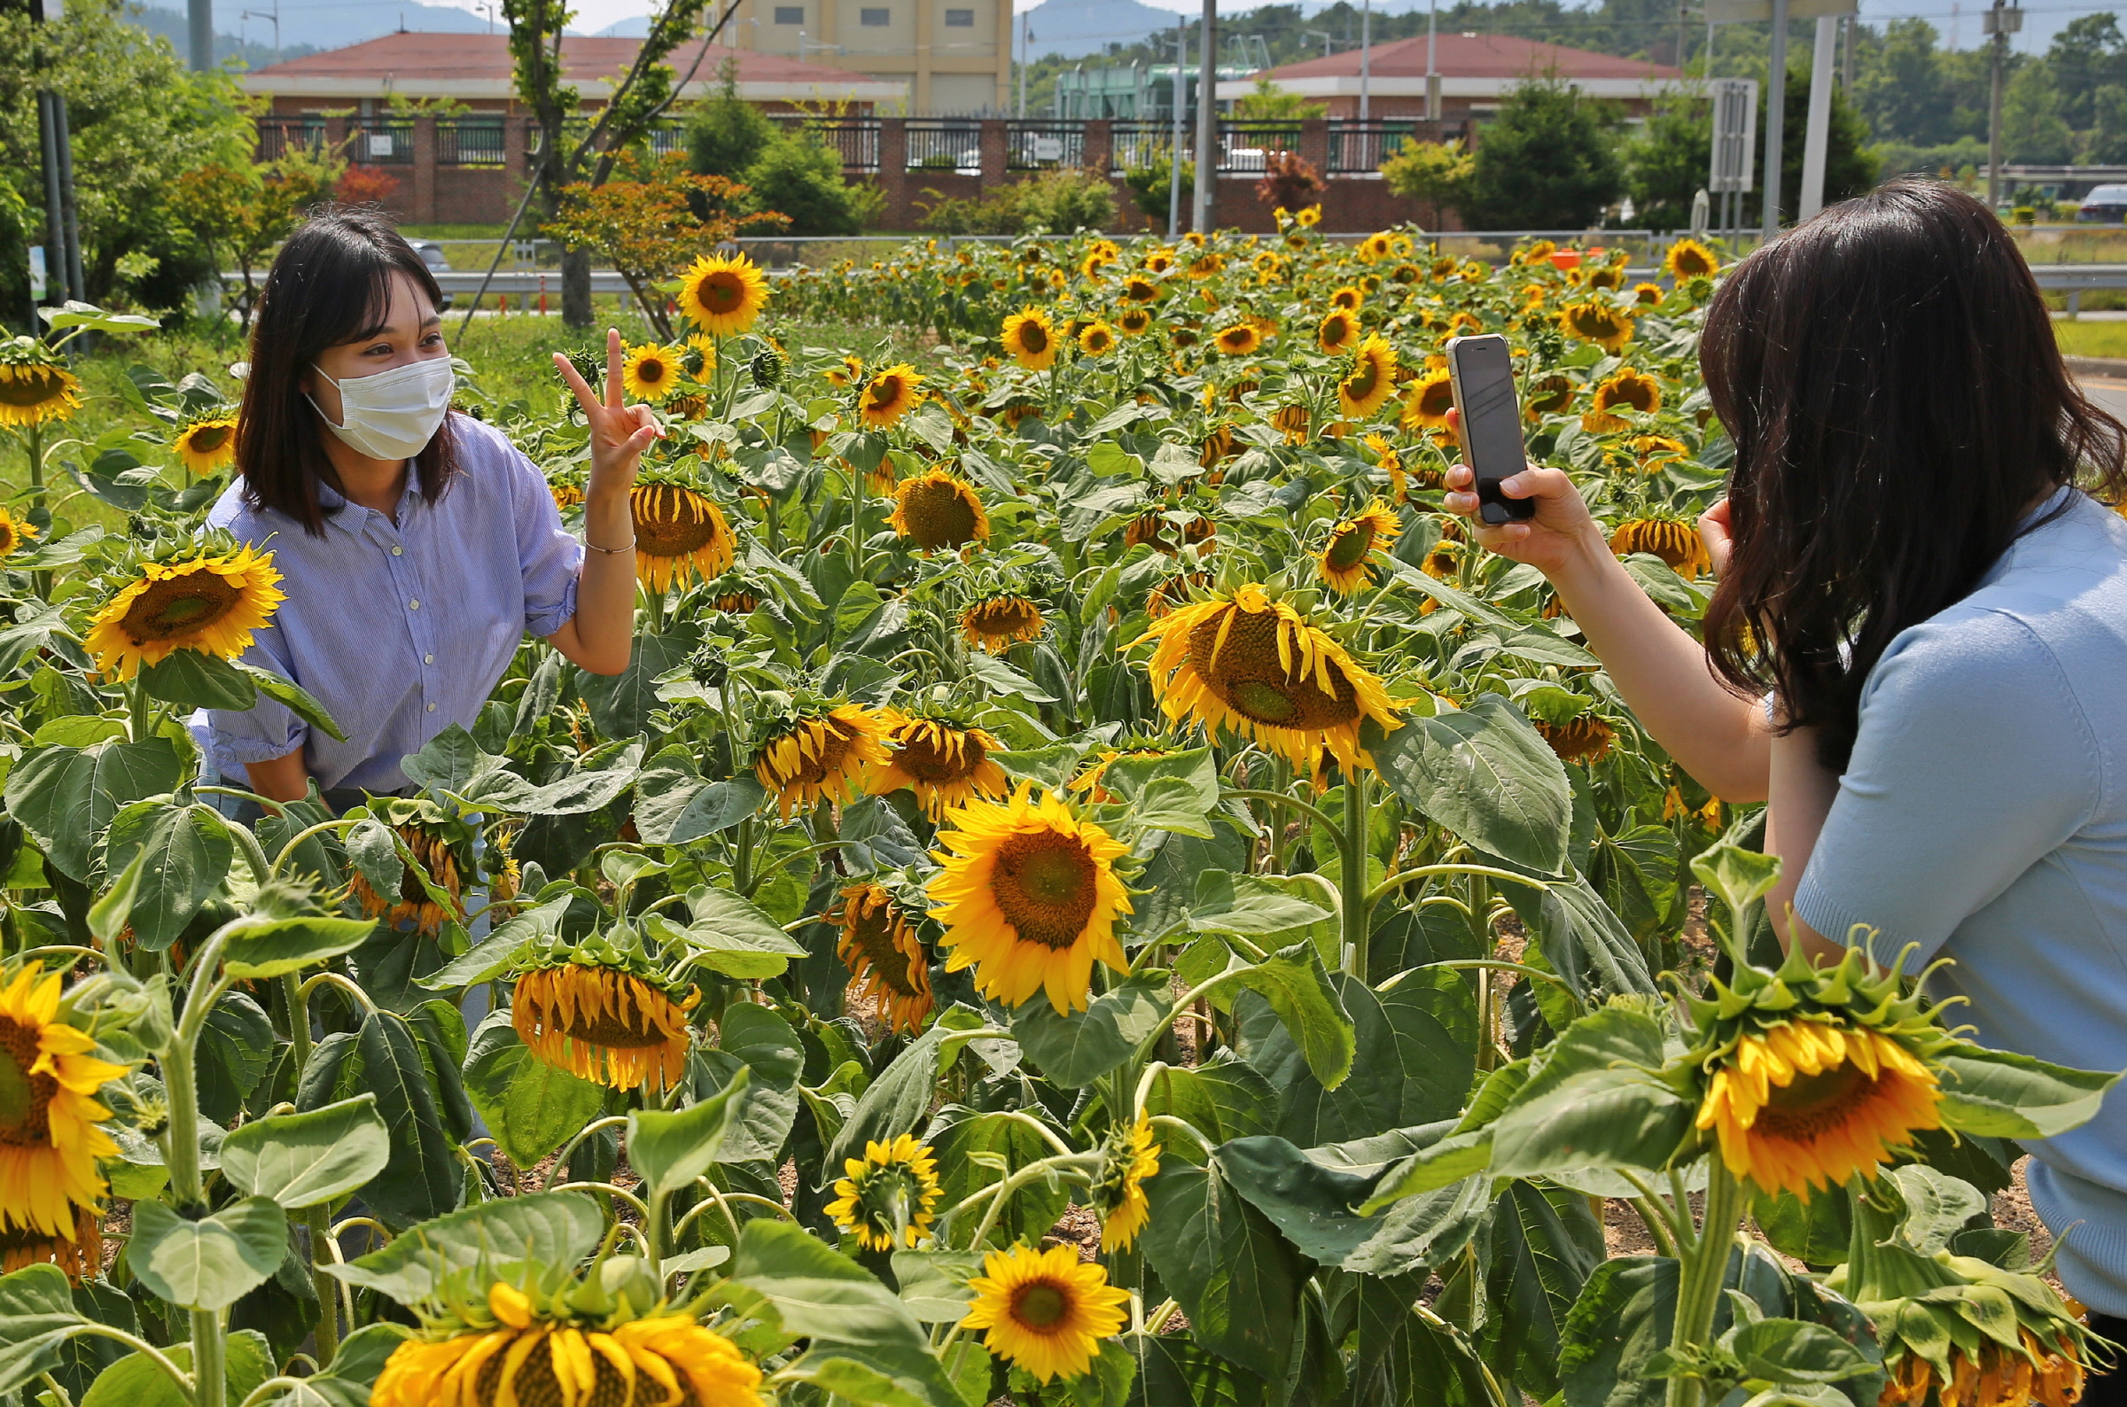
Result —
<path fill-rule="evenodd" d="M 1655 742 L 1725 801 L 1761 801 L 1770 729 L 1706 663 L 1706 648 L 1661 612 L 1600 533 L 1551 572 L 1589 648 Z"/>

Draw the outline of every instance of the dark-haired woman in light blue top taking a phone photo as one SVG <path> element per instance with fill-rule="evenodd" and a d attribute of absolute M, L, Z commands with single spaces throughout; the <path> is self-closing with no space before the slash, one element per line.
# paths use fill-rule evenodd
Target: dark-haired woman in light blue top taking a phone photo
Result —
<path fill-rule="evenodd" d="M 2016 244 L 1893 181 L 1727 274 L 1699 363 L 1736 442 L 1704 646 L 1559 470 L 1502 480 L 1536 514 L 1476 540 L 1551 578 L 1680 767 L 1768 801 L 1789 944 L 1870 925 L 1878 961 L 1955 959 L 1936 995 L 1980 1044 L 2127 1069 L 2127 521 L 2084 491 L 2127 487 L 2127 429 L 2070 380 Z M 1466 465 L 1448 489 L 1474 519 Z M 2063 1284 L 2127 1341 L 2118 1099 L 2031 1152 Z"/>

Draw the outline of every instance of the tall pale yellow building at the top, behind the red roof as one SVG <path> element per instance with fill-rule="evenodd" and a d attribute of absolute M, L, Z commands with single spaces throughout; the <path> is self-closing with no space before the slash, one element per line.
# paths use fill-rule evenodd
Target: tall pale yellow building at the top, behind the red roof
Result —
<path fill-rule="evenodd" d="M 738 0 L 723 40 L 908 83 L 912 117 L 1004 113 L 1012 0 Z"/>

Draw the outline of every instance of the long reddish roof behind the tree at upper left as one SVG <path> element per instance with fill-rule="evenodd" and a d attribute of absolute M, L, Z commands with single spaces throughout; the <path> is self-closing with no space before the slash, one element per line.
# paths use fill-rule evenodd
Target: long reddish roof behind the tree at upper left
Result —
<path fill-rule="evenodd" d="M 593 83 L 619 79 L 634 64 L 640 38 L 591 38 L 566 36 L 562 40 L 562 66 L 570 83 Z M 693 66 L 698 51 L 700 68 Z M 666 64 L 674 74 L 687 77 L 693 68 L 696 83 L 715 83 L 725 57 L 738 60 L 740 83 L 819 83 L 849 85 L 868 79 L 847 68 L 823 64 L 800 64 L 774 53 L 753 53 L 747 49 L 725 49 L 723 45 L 702 45 L 700 40 L 681 45 Z M 306 53 L 300 60 L 270 64 L 247 74 L 251 89 L 289 79 L 372 79 L 389 74 L 398 83 L 466 83 L 466 81 L 510 81 L 510 40 L 506 34 L 385 34 L 345 49 Z"/>

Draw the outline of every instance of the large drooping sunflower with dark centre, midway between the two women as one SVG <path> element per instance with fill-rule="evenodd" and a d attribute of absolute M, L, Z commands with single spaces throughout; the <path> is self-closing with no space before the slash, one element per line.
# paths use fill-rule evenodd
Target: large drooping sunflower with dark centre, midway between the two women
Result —
<path fill-rule="evenodd" d="M 1215 595 L 1157 621 L 1153 695 L 1174 721 L 1227 727 L 1312 769 L 1327 748 L 1346 769 L 1372 765 L 1359 725 L 1397 729 L 1380 680 L 1259 584 Z"/>

